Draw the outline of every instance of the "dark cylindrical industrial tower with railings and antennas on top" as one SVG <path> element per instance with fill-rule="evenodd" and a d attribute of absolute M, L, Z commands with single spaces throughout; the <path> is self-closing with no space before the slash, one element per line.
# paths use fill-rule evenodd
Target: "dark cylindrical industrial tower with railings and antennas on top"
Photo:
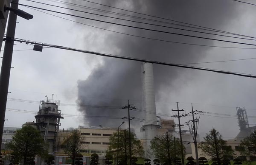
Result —
<path fill-rule="evenodd" d="M 60 126 L 61 110 L 60 101 L 40 101 L 39 111 L 35 114 L 35 126 L 41 131 L 44 140 L 49 143 L 49 153 L 57 151 L 58 132 Z"/>

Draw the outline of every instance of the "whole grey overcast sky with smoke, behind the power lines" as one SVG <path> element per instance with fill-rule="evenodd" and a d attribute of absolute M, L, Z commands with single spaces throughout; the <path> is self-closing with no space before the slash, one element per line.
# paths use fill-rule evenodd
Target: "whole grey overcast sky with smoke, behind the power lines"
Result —
<path fill-rule="evenodd" d="M 64 3 L 57 3 L 55 0 L 41 0 L 40 2 L 108 15 L 111 17 L 184 28 L 160 22 L 150 22 L 132 17 L 94 11 L 90 8 L 69 6 Z M 66 0 L 65 2 L 160 20 L 128 11 L 109 8 L 107 6 L 100 6 L 83 0 Z M 222 31 L 256 36 L 256 20 L 254 17 L 256 14 L 256 6 L 239 3 L 233 0 L 165 0 L 161 2 L 155 0 L 97 0 L 94 2 L 154 15 L 157 17 L 177 20 L 180 22 L 215 28 Z M 253 3 L 254 1 L 251 0 L 247 2 Z M 160 31 L 169 31 L 235 42 L 256 43 L 255 41 L 243 39 L 198 34 L 195 32 L 161 28 L 153 25 L 143 25 L 124 20 L 115 20 L 112 18 L 105 18 L 62 8 L 49 7 L 38 3 L 28 2 L 26 0 L 20 0 L 20 3 L 94 18 L 97 20 L 151 28 Z M 184 45 L 128 36 L 111 31 L 191 44 L 239 48 L 256 48 L 255 46 L 232 44 L 208 39 L 196 39 L 173 34 L 163 34 L 51 13 L 56 16 L 80 22 L 76 23 L 23 6 L 20 6 L 19 8 L 34 15 L 32 20 L 24 20 L 22 18 L 17 19 L 17 22 L 19 23 L 17 23 L 15 37 L 21 39 L 119 56 L 129 56 L 177 64 L 255 58 L 256 49 Z M 50 13 L 49 11 L 45 12 Z M 98 28 L 83 25 L 81 23 L 96 26 Z M 111 31 L 99 28 L 105 28 Z M 195 30 L 192 28 L 186 29 Z M 106 57 L 103 58 L 91 54 L 77 53 L 55 48 L 45 48 L 43 49 L 43 52 L 35 52 L 33 50 L 24 50 L 32 49 L 32 45 L 26 45 L 19 42 L 16 44 L 17 45 L 15 45 L 14 50 L 23 51 L 14 51 L 13 53 L 12 67 L 14 68 L 11 70 L 9 84 L 9 92 L 12 93 L 8 95 L 8 98 L 32 100 L 38 101 L 38 103 L 8 101 L 7 108 L 36 112 L 38 111 L 39 101 L 45 100 L 45 95 L 48 95 L 49 98 L 51 98 L 52 94 L 54 94 L 53 98 L 61 100 L 61 103 L 97 106 L 125 106 L 125 104 L 127 104 L 127 99 L 129 99 L 131 104 L 134 104 L 137 108 L 142 108 L 140 62 Z M 3 51 L 1 51 L 1 56 L 2 55 Z M 190 65 L 239 73 L 256 74 L 255 62 L 256 59 L 250 59 L 233 62 Z M 157 112 L 159 113 L 169 115 L 174 114 L 172 113 L 172 109 L 177 109 L 176 102 L 179 102 L 179 108 L 186 109 L 186 113 L 191 111 L 191 103 L 194 103 L 193 106 L 195 110 L 232 115 L 236 115 L 237 106 L 244 106 L 247 109 L 248 116 L 256 116 L 255 78 L 224 75 L 207 71 L 161 66 L 157 64 L 154 64 L 154 78 L 156 105 Z M 127 116 L 127 112 L 125 110 L 119 109 L 85 109 L 78 108 L 76 106 L 60 106 L 60 109 L 63 114 Z M 131 112 L 131 116 L 143 117 L 143 114 Z M 166 116 L 162 117 L 168 118 Z M 6 111 L 6 119 L 8 119 L 8 121 L 6 121 L 5 126 L 21 126 L 26 121 L 35 120 L 34 114 L 12 112 L 9 110 Z M 185 123 L 187 120 L 191 119 L 191 116 L 184 117 L 181 119 L 181 122 Z M 175 119 L 175 122 L 177 122 L 177 119 Z M 75 128 L 79 125 L 117 127 L 120 123 L 122 123 L 121 119 L 102 120 L 64 116 L 64 119 L 61 120 L 61 128 Z M 137 131 L 143 124 L 142 122 L 136 121 L 131 123 Z M 256 124 L 255 120 L 249 120 L 249 123 L 251 126 L 255 126 Z M 212 129 L 212 127 L 215 127 L 215 129 L 220 131 L 223 137 L 230 139 L 238 134 L 239 126 L 237 125 L 238 123 L 236 118 L 201 115 L 198 132 L 200 136 L 204 136 L 206 132 Z M 125 128 L 127 125 L 123 127 Z M 184 127 L 183 129 L 188 128 Z"/>

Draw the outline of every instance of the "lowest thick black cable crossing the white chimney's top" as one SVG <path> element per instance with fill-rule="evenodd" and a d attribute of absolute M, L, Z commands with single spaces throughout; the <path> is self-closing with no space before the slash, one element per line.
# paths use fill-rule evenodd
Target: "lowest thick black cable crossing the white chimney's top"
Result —
<path fill-rule="evenodd" d="M 4 39 L 6 39 L 6 38 L 4 38 Z M 30 44 L 39 44 L 38 42 L 31 42 L 31 41 L 24 40 L 24 39 L 12 39 L 12 40 L 17 41 L 17 42 L 30 43 Z M 188 65 L 172 64 L 172 63 L 167 63 L 167 62 L 158 62 L 158 61 L 151 61 L 151 60 L 146 60 L 146 59 L 131 58 L 131 57 L 126 57 L 126 56 L 116 56 L 116 55 L 111 55 L 111 54 L 104 54 L 104 53 L 99 53 L 99 52 L 80 50 L 80 49 L 76 49 L 76 48 L 68 48 L 68 47 L 64 47 L 64 46 L 50 45 L 50 44 L 44 44 L 44 43 L 41 43 L 40 45 L 48 46 L 48 47 L 52 47 L 52 48 L 64 49 L 64 50 L 72 50 L 72 51 L 81 52 L 81 53 L 94 54 L 97 56 L 112 57 L 112 58 L 117 58 L 117 59 L 125 59 L 125 60 L 138 61 L 138 62 L 149 62 L 149 63 L 153 63 L 153 64 L 160 64 L 160 65 L 166 65 L 166 66 L 182 67 L 182 68 L 187 68 L 187 69 L 204 70 L 204 71 L 210 71 L 210 72 L 215 72 L 215 73 L 223 73 L 223 74 L 230 74 L 230 75 L 236 75 L 236 76 L 256 78 L 256 75 L 245 74 L 245 73 L 235 73 L 235 72 L 229 72 L 229 71 L 225 71 L 225 70 L 215 70 L 215 69 L 209 69 L 209 68 L 203 68 L 203 67 L 193 67 L 193 66 L 188 66 Z"/>

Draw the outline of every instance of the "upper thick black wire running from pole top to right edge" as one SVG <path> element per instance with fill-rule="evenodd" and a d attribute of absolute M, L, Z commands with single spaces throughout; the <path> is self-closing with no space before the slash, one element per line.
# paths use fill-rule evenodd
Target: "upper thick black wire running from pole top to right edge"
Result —
<path fill-rule="evenodd" d="M 35 7 L 35 6 L 29 6 L 29 5 L 24 5 L 24 4 L 20 4 L 20 3 L 18 3 L 18 4 L 21 5 L 21 6 L 37 8 L 37 9 L 41 9 L 41 10 L 45 10 L 45 11 L 55 12 L 55 13 L 58 13 L 58 14 L 64 14 L 64 15 L 69 15 L 69 16 L 73 16 L 73 17 L 83 18 L 83 19 L 87 19 L 87 20 L 93 20 L 93 21 L 98 21 L 98 22 L 109 23 L 109 24 L 113 24 L 113 25 L 120 25 L 120 26 L 129 27 L 129 28 L 137 28 L 137 29 L 142 29 L 142 30 L 147 30 L 147 31 L 154 31 L 154 32 L 160 32 L 160 33 L 166 33 L 166 34 L 175 34 L 175 35 L 189 36 L 189 37 L 200 38 L 200 39 L 209 39 L 209 40 L 214 40 L 214 41 L 230 42 L 230 43 L 235 43 L 235 44 L 243 44 L 243 45 L 253 45 L 253 46 L 256 46 L 255 44 L 249 44 L 249 43 L 244 43 L 244 42 L 234 42 L 234 41 L 228 41 L 228 40 L 222 40 L 222 39 L 213 39 L 213 38 L 208 38 L 208 37 L 193 36 L 193 35 L 173 33 L 173 32 L 168 32 L 168 31 L 160 31 L 160 30 L 155 30 L 155 29 L 150 29 L 150 28 L 141 28 L 141 27 L 137 27 L 137 26 L 125 25 L 125 24 L 120 24 L 120 23 L 115 23 L 115 22 L 96 20 L 96 19 L 93 19 L 93 18 L 82 17 L 82 16 L 78 16 L 78 15 L 74 15 L 74 14 L 67 14 L 67 13 L 63 13 L 63 12 L 59 12 L 59 11 L 53 11 L 53 10 L 49 10 L 49 9 L 45 9 L 45 8 L 38 8 L 38 7 Z"/>

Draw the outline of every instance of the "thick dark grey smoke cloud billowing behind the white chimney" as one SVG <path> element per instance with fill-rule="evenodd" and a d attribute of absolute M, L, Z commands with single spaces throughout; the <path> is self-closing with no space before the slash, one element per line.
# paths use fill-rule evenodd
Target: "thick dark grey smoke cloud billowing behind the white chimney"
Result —
<path fill-rule="evenodd" d="M 91 3 L 84 3 L 80 0 L 81 5 L 92 5 Z M 131 0 L 131 1 L 97 1 L 98 3 L 125 8 L 131 11 L 138 11 L 158 17 L 170 18 L 173 20 L 180 20 L 183 22 L 189 22 L 196 25 L 203 25 L 207 27 L 223 29 L 229 22 L 236 19 L 238 15 L 238 6 L 235 3 L 228 3 L 227 1 L 156 1 L 156 0 Z M 111 9 L 102 7 L 99 5 L 93 5 L 97 8 L 112 10 L 116 12 L 122 12 L 125 14 L 131 14 L 129 12 L 119 11 L 117 9 Z M 228 6 L 228 9 L 227 9 Z M 76 13 L 78 14 L 78 13 Z M 81 14 L 81 13 L 79 13 Z M 86 14 L 84 14 L 86 15 Z M 111 14 L 108 14 L 111 15 Z M 132 14 L 139 16 L 138 14 Z M 90 16 L 91 15 L 86 15 Z M 113 16 L 113 15 L 111 15 Z M 121 17 L 116 16 L 115 17 Z M 144 17 L 144 16 L 143 16 Z M 99 19 L 100 17 L 94 16 Z M 132 19 L 125 17 L 126 19 Z M 195 39 L 190 37 L 176 36 L 171 34 L 161 34 L 153 31 L 144 31 L 133 28 L 125 28 L 116 25 L 107 25 L 99 22 L 84 21 L 77 19 L 79 22 L 86 22 L 89 25 L 99 26 L 101 28 L 111 29 L 113 31 L 119 31 L 122 33 L 133 34 L 138 36 L 145 36 L 156 39 L 196 43 L 204 45 L 213 45 L 214 42 L 210 40 Z M 103 18 L 101 18 L 103 20 Z M 155 26 L 142 25 L 138 23 L 130 23 L 125 21 L 116 21 L 112 19 L 104 19 L 112 22 L 121 22 L 127 25 L 135 25 L 139 27 L 154 28 L 163 31 L 172 31 L 183 34 L 192 34 L 212 37 L 210 35 L 202 35 L 197 33 L 189 33 L 186 31 L 175 31 L 168 28 L 159 28 Z M 143 21 L 143 20 L 139 20 Z M 160 24 L 154 22 L 156 24 Z M 77 24 L 79 25 L 79 24 Z M 169 25 L 173 26 L 173 25 Z M 113 53 L 121 56 L 130 56 L 142 59 L 151 59 L 162 62 L 172 63 L 188 63 L 198 62 L 206 57 L 207 51 L 211 50 L 210 47 L 200 47 L 192 45 L 181 45 L 168 42 L 154 41 L 150 39 L 141 39 L 132 36 L 125 36 L 122 34 L 116 34 L 108 31 L 102 31 L 93 28 L 87 28 L 81 26 L 81 35 L 84 37 L 84 45 L 89 50 L 94 50 L 103 53 Z M 80 36 L 81 37 L 81 36 Z M 219 43 L 221 45 L 221 43 Z M 95 61 L 101 61 L 87 78 L 78 81 L 78 104 L 83 105 L 105 105 L 105 106 L 125 106 L 127 99 L 131 104 L 134 104 L 137 108 L 141 109 L 141 63 L 131 62 L 114 58 L 97 58 L 89 56 L 87 63 Z M 179 89 L 173 89 L 174 83 L 177 83 L 177 78 L 184 76 L 187 70 L 176 67 L 166 67 L 154 64 L 154 83 L 156 99 L 168 97 L 169 92 L 177 91 Z M 191 75 L 189 75 L 190 77 Z M 165 98 L 168 100 L 168 98 Z M 175 101 L 175 100 L 174 100 Z M 172 107 L 157 104 L 158 108 L 167 109 L 170 111 Z M 96 109 L 96 108 L 79 108 L 80 112 L 85 115 L 93 116 L 127 116 L 127 111 L 122 109 Z M 160 112 L 160 109 L 157 110 Z M 140 112 L 131 112 L 132 117 L 143 117 Z M 85 124 L 91 126 L 110 126 L 117 127 L 122 120 L 116 119 L 95 119 L 87 118 L 84 121 Z M 143 123 L 132 122 L 133 126 L 138 127 Z"/>

